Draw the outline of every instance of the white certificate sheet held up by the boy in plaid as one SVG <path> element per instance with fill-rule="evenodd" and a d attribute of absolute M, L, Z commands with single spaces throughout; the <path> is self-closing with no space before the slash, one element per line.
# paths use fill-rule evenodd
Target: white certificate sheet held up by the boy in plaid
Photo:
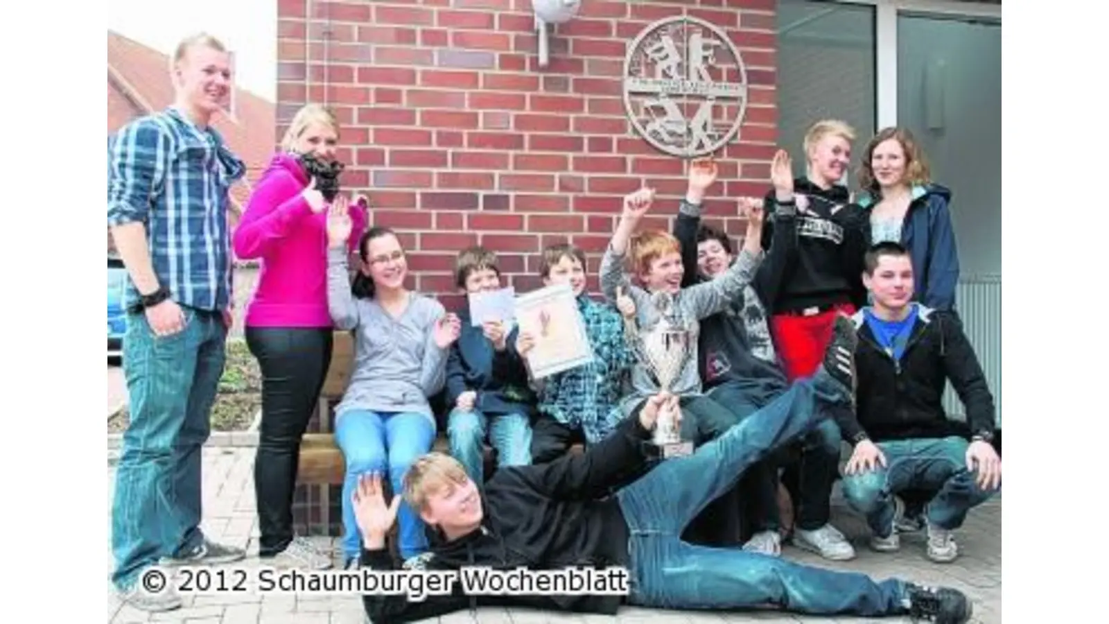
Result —
<path fill-rule="evenodd" d="M 586 321 L 569 284 L 517 296 L 516 321 L 520 333 L 536 336 L 536 345 L 525 358 L 531 379 L 543 379 L 593 360 Z"/>

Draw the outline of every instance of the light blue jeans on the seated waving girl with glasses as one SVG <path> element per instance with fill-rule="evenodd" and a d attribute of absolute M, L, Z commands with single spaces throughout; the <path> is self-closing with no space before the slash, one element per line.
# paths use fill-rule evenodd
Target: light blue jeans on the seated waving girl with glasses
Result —
<path fill-rule="evenodd" d="M 343 555 L 357 558 L 362 554 L 362 532 L 354 515 L 355 489 L 364 474 L 387 474 L 393 495 L 404 493 L 404 477 L 420 455 L 431 450 L 435 425 L 431 419 L 417 413 L 370 412 L 350 410 L 335 420 L 335 443 L 346 460 L 343 480 Z M 401 503 L 397 512 L 400 556 L 408 558 L 428 547 L 424 521 L 419 513 Z"/>

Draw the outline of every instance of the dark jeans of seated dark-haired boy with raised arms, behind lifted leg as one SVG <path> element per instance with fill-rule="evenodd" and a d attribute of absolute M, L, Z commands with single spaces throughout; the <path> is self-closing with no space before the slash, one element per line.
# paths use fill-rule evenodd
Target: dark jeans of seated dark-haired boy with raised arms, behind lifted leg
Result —
<path fill-rule="evenodd" d="M 781 392 L 753 392 L 735 382 L 724 382 L 710 391 L 709 395 L 722 405 L 728 405 L 740 421 L 745 421 L 757 410 L 769 405 Z M 797 526 L 815 531 L 827 524 L 832 516 L 832 487 L 840 473 L 840 427 L 831 417 L 831 409 L 814 404 L 822 411 L 818 424 L 795 444 L 800 453 L 790 472 L 795 474 L 794 501 L 797 506 Z M 772 456 L 752 466 L 744 475 L 740 489 L 750 496 L 750 517 L 754 531 L 776 531 L 781 526 L 777 511 L 777 469 L 783 460 Z"/>

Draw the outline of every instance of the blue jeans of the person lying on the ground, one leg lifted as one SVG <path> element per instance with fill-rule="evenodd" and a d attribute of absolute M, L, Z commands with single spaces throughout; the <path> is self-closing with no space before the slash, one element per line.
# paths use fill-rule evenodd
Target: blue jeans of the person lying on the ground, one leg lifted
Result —
<path fill-rule="evenodd" d="M 630 602 L 667 608 L 777 605 L 811 614 L 905 613 L 903 581 L 875 582 L 739 548 L 682 542 L 682 529 L 731 489 L 751 465 L 816 425 L 817 403 L 841 402 L 842 385 L 823 371 L 794 383 L 769 405 L 692 455 L 661 462 L 617 496 L 628 522 Z"/>

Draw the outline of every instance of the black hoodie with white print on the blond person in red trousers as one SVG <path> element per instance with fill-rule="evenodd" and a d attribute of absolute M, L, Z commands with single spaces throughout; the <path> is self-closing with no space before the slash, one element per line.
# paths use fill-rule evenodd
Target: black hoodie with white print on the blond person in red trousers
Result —
<path fill-rule="evenodd" d="M 774 191 L 765 198 L 762 246 L 766 261 L 765 274 L 756 279 L 759 295 L 775 314 L 841 303 L 862 308 L 866 304 L 866 212 L 851 203 L 844 187 L 824 190 L 798 178 L 793 188 L 797 214 L 791 218 L 790 227 L 796 228 L 796 244 L 790 249 L 772 244 L 785 207 L 779 205 Z M 807 205 L 802 209 L 801 203 Z"/>

